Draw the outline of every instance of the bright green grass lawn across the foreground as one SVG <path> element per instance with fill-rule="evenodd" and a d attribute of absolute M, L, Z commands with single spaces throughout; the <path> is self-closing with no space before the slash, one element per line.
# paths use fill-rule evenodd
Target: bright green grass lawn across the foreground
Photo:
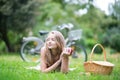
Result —
<path fill-rule="evenodd" d="M 103 55 L 94 54 L 93 59 L 103 60 Z M 76 69 L 69 71 L 68 74 L 60 72 L 41 73 L 38 70 L 26 69 L 25 67 L 37 64 L 24 62 L 19 55 L 1 54 L 0 80 L 120 80 L 120 54 L 107 54 L 107 60 L 115 64 L 110 75 L 81 74 L 81 72 L 84 73 L 84 67 L 79 58 L 70 58 L 70 68 Z"/>

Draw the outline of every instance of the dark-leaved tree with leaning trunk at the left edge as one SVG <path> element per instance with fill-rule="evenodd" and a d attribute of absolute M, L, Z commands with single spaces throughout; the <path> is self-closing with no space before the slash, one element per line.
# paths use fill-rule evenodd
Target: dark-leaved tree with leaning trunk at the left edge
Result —
<path fill-rule="evenodd" d="M 0 0 L 0 39 L 14 51 L 8 32 L 23 32 L 34 24 L 35 0 Z"/>

